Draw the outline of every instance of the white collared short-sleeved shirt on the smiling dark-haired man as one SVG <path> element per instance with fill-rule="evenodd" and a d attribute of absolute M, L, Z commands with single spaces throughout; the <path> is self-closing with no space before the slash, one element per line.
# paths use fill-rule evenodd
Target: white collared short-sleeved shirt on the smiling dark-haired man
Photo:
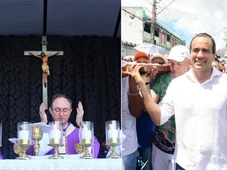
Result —
<path fill-rule="evenodd" d="M 159 103 L 161 124 L 175 113 L 174 160 L 184 169 L 227 169 L 227 75 L 200 84 L 192 70 L 172 80 Z"/>

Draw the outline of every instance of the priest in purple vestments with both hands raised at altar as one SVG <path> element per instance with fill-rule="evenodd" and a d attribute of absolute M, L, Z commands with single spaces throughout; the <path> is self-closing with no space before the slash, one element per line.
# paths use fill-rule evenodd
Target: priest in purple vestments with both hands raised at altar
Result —
<path fill-rule="evenodd" d="M 47 115 L 45 113 L 45 105 L 42 103 L 39 108 L 39 114 L 41 122 L 47 124 Z M 56 94 L 52 98 L 52 104 L 49 108 L 50 114 L 54 121 L 60 121 L 63 124 L 63 144 L 64 146 L 59 148 L 60 154 L 78 154 L 75 150 L 75 144 L 79 143 L 79 129 L 70 123 L 69 117 L 72 112 L 72 101 L 71 99 L 63 94 Z M 83 106 L 82 103 L 78 103 L 76 123 L 79 125 L 83 120 Z M 44 137 L 44 136 L 43 136 Z M 50 155 L 54 153 L 54 148 L 48 147 L 49 139 L 44 137 L 40 141 L 40 154 L 39 155 Z M 44 142 L 45 141 L 45 142 Z M 46 144 L 44 144 L 46 143 Z M 94 145 L 91 148 L 91 152 L 95 158 L 99 153 L 100 144 L 97 138 L 94 136 Z M 34 155 L 34 146 L 30 147 L 27 152 L 28 155 Z"/>

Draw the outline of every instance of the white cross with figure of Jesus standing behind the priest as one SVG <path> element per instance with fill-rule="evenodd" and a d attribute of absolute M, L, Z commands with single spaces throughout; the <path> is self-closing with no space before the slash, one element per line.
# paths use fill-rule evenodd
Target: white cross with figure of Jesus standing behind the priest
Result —
<path fill-rule="evenodd" d="M 42 51 L 24 51 L 24 55 L 38 57 L 42 60 L 42 90 L 43 90 L 43 103 L 48 109 L 48 93 L 47 93 L 47 77 L 50 75 L 48 58 L 56 55 L 63 55 L 63 51 L 47 51 L 47 37 L 42 36 Z"/>

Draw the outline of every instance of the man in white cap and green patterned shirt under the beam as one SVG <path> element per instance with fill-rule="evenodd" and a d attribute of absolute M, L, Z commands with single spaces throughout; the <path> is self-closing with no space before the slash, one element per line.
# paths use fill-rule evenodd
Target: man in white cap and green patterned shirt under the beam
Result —
<path fill-rule="evenodd" d="M 171 78 L 177 78 L 189 70 L 189 49 L 183 45 L 176 45 L 170 50 L 167 60 L 170 65 Z M 156 78 L 157 82 L 152 86 L 152 90 L 159 95 L 159 101 L 161 101 L 165 96 L 166 89 L 170 83 L 170 76 L 168 73 L 165 75 L 163 75 L 164 79 L 161 79 L 162 77 Z M 172 170 L 173 167 L 175 167 L 175 163 L 172 159 L 175 149 L 175 129 L 174 115 L 171 116 L 164 124 L 156 127 L 152 141 L 153 170 Z"/>

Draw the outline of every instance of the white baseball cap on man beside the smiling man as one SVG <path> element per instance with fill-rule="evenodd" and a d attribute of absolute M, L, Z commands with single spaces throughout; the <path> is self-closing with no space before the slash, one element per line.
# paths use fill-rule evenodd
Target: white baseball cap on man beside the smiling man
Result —
<path fill-rule="evenodd" d="M 190 59 L 189 49 L 183 45 L 176 45 L 170 50 L 167 60 L 182 62 L 185 58 Z"/>

